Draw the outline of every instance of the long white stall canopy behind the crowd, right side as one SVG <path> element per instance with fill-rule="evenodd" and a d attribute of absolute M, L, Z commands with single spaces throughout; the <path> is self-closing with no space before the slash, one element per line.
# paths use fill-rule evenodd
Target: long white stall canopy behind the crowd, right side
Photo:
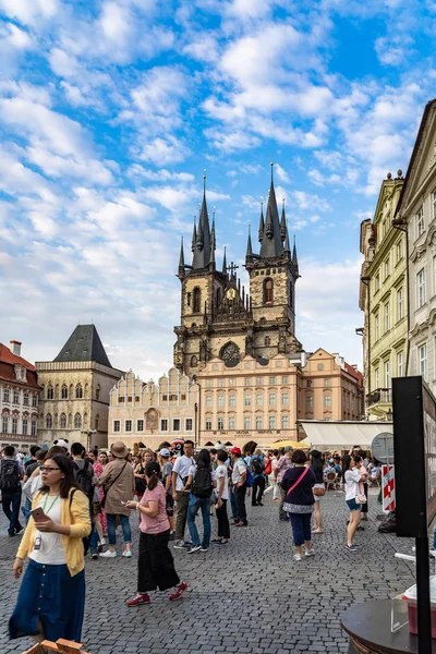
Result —
<path fill-rule="evenodd" d="M 311 443 L 314 449 L 349 449 L 360 445 L 363 449 L 370 449 L 373 439 L 388 432 L 393 433 L 391 422 L 372 421 L 323 421 L 323 420 L 299 420 L 299 436 L 302 443 L 304 438 Z"/>

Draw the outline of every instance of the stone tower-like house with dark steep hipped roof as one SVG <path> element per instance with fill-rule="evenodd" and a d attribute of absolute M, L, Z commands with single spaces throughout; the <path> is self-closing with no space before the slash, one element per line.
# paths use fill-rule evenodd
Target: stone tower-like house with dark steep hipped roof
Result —
<path fill-rule="evenodd" d="M 122 371 L 113 368 L 94 325 L 78 325 L 53 361 L 36 363 L 41 399 L 38 443 L 65 438 L 87 449 L 108 444 L 109 393 Z"/>

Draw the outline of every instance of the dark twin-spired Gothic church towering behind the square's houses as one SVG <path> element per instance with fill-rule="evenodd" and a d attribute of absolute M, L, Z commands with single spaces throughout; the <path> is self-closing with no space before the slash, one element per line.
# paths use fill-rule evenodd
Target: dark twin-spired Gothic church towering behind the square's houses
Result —
<path fill-rule="evenodd" d="M 178 277 L 182 284 L 181 323 L 174 328 L 174 365 L 198 374 L 211 359 L 235 366 L 245 354 L 269 360 L 301 350 L 295 330 L 295 282 L 299 264 L 291 252 L 284 205 L 279 218 L 272 180 L 266 216 L 261 211 L 259 254 L 249 233 L 245 268 L 250 298 L 237 277 L 237 266 L 216 265 L 215 215 L 209 223 L 204 189 L 198 223 L 194 219 L 192 265 L 184 263 L 183 241 Z"/>

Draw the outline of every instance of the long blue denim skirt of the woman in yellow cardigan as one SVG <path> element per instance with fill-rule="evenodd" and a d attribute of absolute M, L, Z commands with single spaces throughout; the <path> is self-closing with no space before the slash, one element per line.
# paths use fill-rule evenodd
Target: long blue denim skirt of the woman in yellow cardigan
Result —
<path fill-rule="evenodd" d="M 9 620 L 9 637 L 38 633 L 56 642 L 60 638 L 81 642 L 85 610 L 85 571 L 71 577 L 64 566 L 45 566 L 29 560 Z"/>

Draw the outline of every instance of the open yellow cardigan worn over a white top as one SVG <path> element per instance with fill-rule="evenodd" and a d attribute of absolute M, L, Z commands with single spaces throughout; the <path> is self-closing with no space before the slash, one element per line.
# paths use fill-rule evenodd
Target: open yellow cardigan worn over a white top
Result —
<path fill-rule="evenodd" d="M 89 535 L 92 531 L 89 517 L 89 500 L 82 491 L 75 491 L 70 508 L 70 491 L 69 497 L 62 499 L 61 507 L 61 524 L 69 524 L 71 532 L 69 536 L 61 535 L 63 550 L 65 553 L 66 566 L 71 577 L 81 572 L 85 567 L 85 557 L 82 538 Z M 32 508 L 35 509 L 41 498 L 41 493 L 37 493 Z M 31 516 L 26 531 L 20 543 L 16 556 L 24 559 L 31 554 L 35 544 L 35 521 Z"/>

